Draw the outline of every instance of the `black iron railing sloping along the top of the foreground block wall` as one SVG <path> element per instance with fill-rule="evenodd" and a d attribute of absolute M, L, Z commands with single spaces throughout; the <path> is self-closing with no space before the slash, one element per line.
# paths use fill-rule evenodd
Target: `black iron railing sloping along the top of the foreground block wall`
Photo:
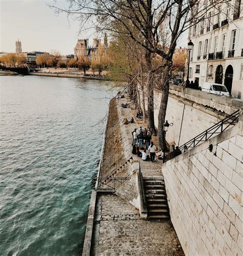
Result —
<path fill-rule="evenodd" d="M 189 140 L 184 145 L 179 147 L 181 153 L 185 153 L 189 149 L 196 147 L 200 142 L 209 140 L 213 135 L 220 134 L 224 132 L 230 125 L 237 123 L 239 119 L 239 110 L 235 111 L 233 114 L 229 115 L 225 119 L 222 119 L 218 123 L 211 126 L 208 130 L 200 133 L 195 138 Z M 176 152 L 177 153 L 177 152 Z M 175 152 L 171 152 L 166 155 L 165 161 L 168 161 L 176 156 Z"/>

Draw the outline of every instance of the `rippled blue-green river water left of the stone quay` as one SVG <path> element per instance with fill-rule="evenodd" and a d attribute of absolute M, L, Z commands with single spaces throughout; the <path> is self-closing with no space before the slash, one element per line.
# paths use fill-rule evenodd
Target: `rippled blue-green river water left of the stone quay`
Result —
<path fill-rule="evenodd" d="M 0 83 L 0 255 L 79 255 L 105 129 L 99 121 L 117 90 L 71 78 Z"/>

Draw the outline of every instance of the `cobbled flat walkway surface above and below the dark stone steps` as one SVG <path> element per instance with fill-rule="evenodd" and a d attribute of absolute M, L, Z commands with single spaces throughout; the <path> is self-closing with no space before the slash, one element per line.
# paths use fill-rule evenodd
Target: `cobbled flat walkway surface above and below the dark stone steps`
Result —
<path fill-rule="evenodd" d="M 126 99 L 119 105 L 122 102 Z M 122 115 L 135 116 L 130 108 L 123 108 Z M 126 125 L 127 134 L 140 125 L 145 126 Z M 140 161 L 144 176 L 161 175 L 161 160 L 142 161 L 134 155 L 133 159 Z M 140 220 L 138 209 L 116 195 L 98 196 L 93 232 L 92 255 L 184 255 L 170 220 Z"/>

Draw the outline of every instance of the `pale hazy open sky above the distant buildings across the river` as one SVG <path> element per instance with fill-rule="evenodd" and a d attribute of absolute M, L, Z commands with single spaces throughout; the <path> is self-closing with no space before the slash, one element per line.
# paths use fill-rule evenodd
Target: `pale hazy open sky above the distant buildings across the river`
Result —
<path fill-rule="evenodd" d="M 73 54 L 77 39 L 89 38 L 92 45 L 95 30 L 79 32 L 79 22 L 67 14 L 55 15 L 47 4 L 54 0 L 0 0 L 0 51 L 15 52 L 15 41 L 22 42 L 23 51 L 58 50 Z M 56 0 L 56 5 L 67 6 L 65 0 Z M 185 47 L 178 43 L 178 46 Z M 186 41 L 187 42 L 187 41 Z"/>

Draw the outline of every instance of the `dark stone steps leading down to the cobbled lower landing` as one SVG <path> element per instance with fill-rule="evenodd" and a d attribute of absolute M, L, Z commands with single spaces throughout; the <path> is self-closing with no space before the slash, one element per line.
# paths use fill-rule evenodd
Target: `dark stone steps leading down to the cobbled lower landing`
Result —
<path fill-rule="evenodd" d="M 144 176 L 144 188 L 150 220 L 167 220 L 170 211 L 163 176 Z"/>

